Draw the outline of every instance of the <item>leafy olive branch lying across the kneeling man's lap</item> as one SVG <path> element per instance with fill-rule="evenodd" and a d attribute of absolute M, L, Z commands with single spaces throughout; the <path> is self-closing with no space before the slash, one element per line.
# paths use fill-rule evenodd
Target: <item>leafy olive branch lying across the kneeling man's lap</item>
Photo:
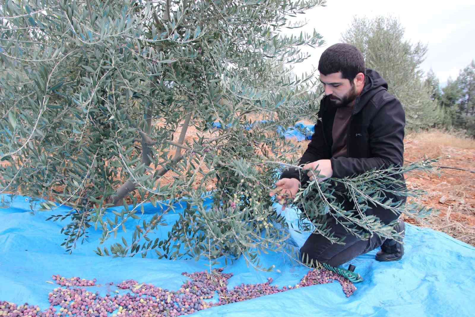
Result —
<path fill-rule="evenodd" d="M 299 228 L 318 232 L 333 243 L 344 244 L 342 238 L 333 236 L 332 228 L 328 225 L 328 219 L 333 218 L 336 223 L 360 239 L 369 239 L 377 234 L 399 240 L 400 233 L 393 229 L 397 220 L 384 224 L 377 216 L 367 211 L 379 208 L 397 216 L 405 214 L 409 218 L 427 217 L 431 212 L 430 208 L 412 203 L 406 204 L 403 200 L 393 201 L 386 197 L 388 194 L 406 198 L 420 197 L 424 192 L 407 190 L 404 180 L 398 175 L 414 170 L 430 172 L 434 169 L 432 163 L 435 161 L 428 159 L 402 168 L 390 166 L 384 169 L 372 169 L 360 175 L 330 178 L 323 182 L 309 181 L 306 187 L 299 190 L 293 201 L 301 210 Z M 307 219 L 312 221 L 309 222 Z"/>

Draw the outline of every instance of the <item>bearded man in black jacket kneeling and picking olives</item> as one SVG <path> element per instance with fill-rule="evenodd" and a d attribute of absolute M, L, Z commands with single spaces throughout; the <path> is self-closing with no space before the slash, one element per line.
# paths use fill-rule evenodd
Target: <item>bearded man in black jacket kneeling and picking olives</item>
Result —
<path fill-rule="evenodd" d="M 358 175 L 373 168 L 401 167 L 404 152 L 404 110 L 394 96 L 388 93 L 388 84 L 380 74 L 366 69 L 361 52 L 350 44 L 335 44 L 325 50 L 318 64 L 320 81 L 325 97 L 320 104 L 312 141 L 300 159 L 307 174 L 286 170 L 276 182 L 271 195 L 277 199 L 294 197 L 301 185 L 313 180 L 313 170 L 326 178 L 344 178 Z M 404 179 L 399 175 L 399 179 Z M 387 194 L 392 201 L 405 197 Z M 342 201 L 345 210 L 354 210 L 349 199 Z M 383 224 L 397 219 L 387 209 L 374 207 L 366 215 L 380 218 Z M 351 259 L 381 247 L 376 259 L 395 261 L 404 254 L 403 245 L 376 234 L 361 240 L 348 232 L 332 216 L 327 218 L 335 238 L 344 237 L 344 245 L 334 244 L 324 236 L 313 233 L 300 250 L 301 258 L 339 266 Z M 399 219 L 396 231 L 404 236 L 404 222 Z"/>

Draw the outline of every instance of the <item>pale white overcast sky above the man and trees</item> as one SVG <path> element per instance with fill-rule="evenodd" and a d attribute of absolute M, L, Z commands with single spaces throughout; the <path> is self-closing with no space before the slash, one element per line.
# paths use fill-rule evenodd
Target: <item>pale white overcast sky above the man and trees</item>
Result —
<path fill-rule="evenodd" d="M 459 70 L 475 59 L 475 1 L 474 0 L 327 0 L 326 7 L 317 7 L 298 15 L 309 20 L 300 30 L 315 29 L 326 42 L 323 48 L 309 48 L 312 57 L 295 65 L 301 74 L 318 66 L 318 59 L 328 46 L 339 43 L 341 34 L 353 17 L 373 18 L 393 16 L 405 28 L 405 38 L 411 43 L 428 45 L 428 54 L 421 68 L 432 68 L 441 83 L 449 76 L 456 79 Z"/>

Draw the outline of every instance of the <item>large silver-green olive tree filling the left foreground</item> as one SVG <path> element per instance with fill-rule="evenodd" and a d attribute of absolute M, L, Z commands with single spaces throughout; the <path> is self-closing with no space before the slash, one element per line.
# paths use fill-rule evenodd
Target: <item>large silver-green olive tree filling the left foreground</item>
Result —
<path fill-rule="evenodd" d="M 313 74 L 293 78 L 282 64 L 308 58 L 299 46 L 323 40 L 316 31 L 285 37 L 280 30 L 288 17 L 323 3 L 7 1 L 0 7 L 1 192 L 49 199 L 41 206 L 50 219 L 70 221 L 62 229 L 68 251 L 93 228 L 102 230 L 101 243 L 115 238 L 146 202 L 160 201 L 166 213 L 181 198 L 187 208 L 167 238 L 155 238 L 160 212 L 97 253 L 242 255 L 258 265 L 259 252 L 287 250 L 287 225 L 268 193 L 281 163 L 298 157 L 277 128 L 316 114 L 318 96 Z M 213 122 L 226 129 L 211 129 Z M 173 182 L 161 182 L 171 171 Z M 384 203 L 375 184 L 391 184 L 390 175 L 342 181 L 368 195 L 358 199 L 364 210 L 368 201 Z M 310 188 L 312 201 L 326 206 L 315 216 L 330 212 L 349 229 L 397 236 L 377 218 L 335 205 L 331 187 Z M 213 198 L 212 208 L 204 198 Z M 57 214 L 58 205 L 72 210 Z M 107 210 L 117 205 L 120 212 Z M 311 230 L 328 235 L 324 225 Z"/>

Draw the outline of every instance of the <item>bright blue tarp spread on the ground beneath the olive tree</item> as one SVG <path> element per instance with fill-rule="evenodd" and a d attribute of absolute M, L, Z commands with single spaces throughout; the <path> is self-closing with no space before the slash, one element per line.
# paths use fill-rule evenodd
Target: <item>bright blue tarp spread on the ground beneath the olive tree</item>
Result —
<path fill-rule="evenodd" d="M 56 286 L 46 281 L 51 281 L 53 274 L 96 278 L 102 286 L 90 289 L 105 295 L 115 289 L 105 283 L 117 284 L 126 279 L 177 290 L 185 281 L 181 272 L 207 269 L 206 260 L 99 257 L 93 250 L 98 246 L 101 233 L 94 228 L 87 242 L 78 245 L 72 255 L 66 254 L 59 245 L 64 238 L 60 230 L 67 219 L 63 222 L 45 219 L 67 211 L 67 207 L 32 214 L 30 198 L 17 196 L 13 201 L 6 195 L 0 198 L 6 201 L 6 206 L 0 208 L 0 300 L 47 308 L 48 292 Z M 166 235 L 181 210 L 177 208 L 164 216 L 170 226 L 162 227 L 161 234 Z M 160 211 L 146 204 L 141 217 L 151 218 Z M 295 221 L 292 209 L 287 208 L 285 216 L 288 221 Z M 127 222 L 126 238 L 139 221 L 142 220 Z M 358 290 L 349 298 L 339 283 L 334 282 L 211 307 L 194 316 L 474 316 L 475 248 L 432 229 L 411 225 L 406 228 L 402 260 L 378 262 L 374 259 L 377 250 L 374 250 L 350 262 L 364 281 L 356 284 Z M 298 235 L 293 234 L 294 243 L 301 245 L 305 237 Z M 121 233 L 117 239 L 121 239 Z M 105 246 L 112 243 L 114 240 L 110 239 Z M 262 262 L 266 267 L 276 265 L 280 272 L 257 271 L 247 267 L 241 258 L 224 269 L 224 272 L 234 273 L 228 287 L 264 283 L 267 277 L 272 277 L 273 283 L 281 287 L 295 285 L 308 272 L 282 254 L 263 255 Z"/>

